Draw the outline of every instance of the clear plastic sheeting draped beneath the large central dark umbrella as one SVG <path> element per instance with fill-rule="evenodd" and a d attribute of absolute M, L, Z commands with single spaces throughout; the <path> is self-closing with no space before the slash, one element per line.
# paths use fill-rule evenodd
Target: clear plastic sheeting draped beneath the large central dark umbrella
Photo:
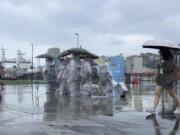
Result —
<path fill-rule="evenodd" d="M 113 76 L 108 63 L 98 65 L 89 59 L 80 60 L 80 57 L 73 56 L 68 66 L 66 60 L 61 62 L 61 72 L 58 75 L 59 90 L 61 94 L 70 96 L 113 96 L 113 89 L 116 87 L 122 90 L 121 84 L 113 85 Z M 121 94 L 119 92 L 119 94 Z"/>

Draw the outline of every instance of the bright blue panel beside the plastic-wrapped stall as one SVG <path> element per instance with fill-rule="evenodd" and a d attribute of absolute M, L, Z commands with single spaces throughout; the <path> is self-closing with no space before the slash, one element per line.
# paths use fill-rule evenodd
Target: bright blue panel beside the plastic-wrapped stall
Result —
<path fill-rule="evenodd" d="M 111 61 L 109 62 L 110 69 L 113 74 L 113 78 L 116 82 L 124 81 L 124 58 L 121 56 L 112 56 L 110 57 Z"/>

